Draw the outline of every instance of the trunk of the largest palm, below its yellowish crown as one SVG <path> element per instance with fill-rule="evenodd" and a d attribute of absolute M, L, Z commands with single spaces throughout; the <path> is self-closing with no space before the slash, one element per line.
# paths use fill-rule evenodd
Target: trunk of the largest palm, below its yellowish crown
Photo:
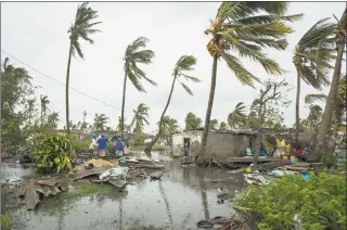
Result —
<path fill-rule="evenodd" d="M 210 114 L 213 112 L 213 106 L 214 106 L 214 98 L 215 98 L 216 81 L 217 81 L 217 61 L 218 61 L 218 56 L 215 55 L 214 56 L 214 64 L 213 64 L 211 80 L 210 80 L 208 105 L 207 105 L 206 117 L 205 117 L 205 127 L 204 127 L 203 140 L 202 140 L 202 149 L 201 149 L 202 156 L 205 156 L 207 136 L 208 136 L 208 129 L 209 129 L 209 122 L 210 122 Z"/>

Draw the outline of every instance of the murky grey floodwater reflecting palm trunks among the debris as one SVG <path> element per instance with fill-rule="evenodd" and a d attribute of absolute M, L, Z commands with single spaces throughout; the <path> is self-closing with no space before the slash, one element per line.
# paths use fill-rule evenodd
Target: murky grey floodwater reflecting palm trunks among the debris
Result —
<path fill-rule="evenodd" d="M 166 165 L 162 180 L 128 184 L 126 191 L 111 195 L 91 195 L 64 200 L 64 193 L 44 199 L 35 212 L 25 206 L 11 212 L 18 230 L 127 230 L 197 229 L 196 222 L 216 216 L 230 216 L 231 204 L 217 203 L 217 188 L 240 191 L 246 186 L 241 174 L 218 168 L 183 168 L 179 159 L 152 153 Z M 33 168 L 1 166 L 1 180 L 17 180 Z M 232 177 L 232 178 L 231 178 Z M 226 179 L 216 182 L 218 179 Z M 145 228 L 155 226 L 159 228 Z"/>

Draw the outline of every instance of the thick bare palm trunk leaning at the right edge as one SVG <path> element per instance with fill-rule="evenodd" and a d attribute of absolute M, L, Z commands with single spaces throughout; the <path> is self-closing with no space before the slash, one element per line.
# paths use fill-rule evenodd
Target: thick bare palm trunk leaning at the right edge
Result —
<path fill-rule="evenodd" d="M 344 14 L 346 14 L 346 11 Z M 329 92 L 329 95 L 326 99 L 326 104 L 325 104 L 323 117 L 322 117 L 321 124 L 319 126 L 319 131 L 318 131 L 318 138 L 317 138 L 318 144 L 316 145 L 316 151 L 314 151 L 314 153 L 318 154 L 317 159 L 320 158 L 322 151 L 326 150 L 326 144 L 324 144 L 325 143 L 325 136 L 327 133 L 327 130 L 329 130 L 329 128 L 331 126 L 331 122 L 332 122 L 333 110 L 335 106 L 338 82 L 339 82 L 339 77 L 340 77 L 340 68 L 342 68 L 344 50 L 345 50 L 345 36 L 343 34 L 339 34 L 338 35 L 337 56 L 336 56 L 336 62 L 335 62 L 333 80 L 332 80 L 330 92 Z"/>

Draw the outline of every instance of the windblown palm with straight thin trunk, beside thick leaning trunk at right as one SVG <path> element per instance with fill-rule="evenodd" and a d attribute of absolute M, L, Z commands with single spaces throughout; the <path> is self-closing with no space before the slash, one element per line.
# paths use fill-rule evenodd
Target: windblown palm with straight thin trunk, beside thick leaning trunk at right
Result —
<path fill-rule="evenodd" d="M 299 102 L 300 102 L 300 81 L 321 89 L 329 84 L 326 72 L 332 66 L 330 62 L 334 58 L 335 50 L 331 48 L 331 34 L 334 24 L 327 23 L 330 18 L 324 18 L 316 23 L 298 41 L 295 47 L 293 63 L 297 73 L 296 85 L 296 113 L 295 113 L 295 143 L 298 143 L 299 135 Z"/>

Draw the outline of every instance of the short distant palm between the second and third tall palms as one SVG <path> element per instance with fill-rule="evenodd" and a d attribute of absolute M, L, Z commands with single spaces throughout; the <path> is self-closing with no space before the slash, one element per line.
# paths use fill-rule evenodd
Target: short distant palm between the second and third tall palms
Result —
<path fill-rule="evenodd" d="M 141 135 L 143 133 L 144 125 L 150 125 L 149 118 L 149 110 L 150 107 L 145 104 L 141 103 L 138 106 L 138 110 L 133 110 L 133 118 L 131 120 L 130 127 L 133 128 L 134 139 L 139 141 L 141 139 Z"/>

